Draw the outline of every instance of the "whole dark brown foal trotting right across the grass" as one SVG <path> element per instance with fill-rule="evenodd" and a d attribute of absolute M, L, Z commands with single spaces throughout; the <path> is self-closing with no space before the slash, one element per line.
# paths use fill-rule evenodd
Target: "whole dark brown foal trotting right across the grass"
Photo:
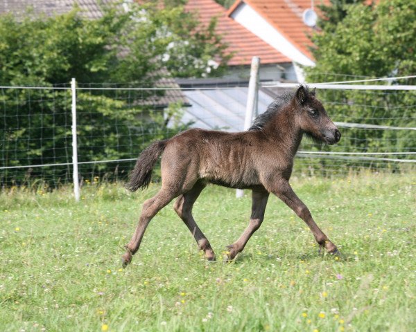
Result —
<path fill-rule="evenodd" d="M 137 159 L 127 187 L 132 191 L 147 187 L 152 169 L 162 154 L 162 188 L 144 202 L 139 224 L 122 257 L 123 266 L 130 263 L 139 249 L 153 216 L 175 197 L 175 211 L 205 257 L 214 260 L 214 250 L 192 216 L 193 203 L 208 183 L 252 190 L 250 223 L 241 237 L 228 246 L 229 259 L 234 259 L 259 229 L 270 192 L 304 220 L 322 248 L 336 253 L 336 246 L 316 225 L 311 212 L 289 184 L 293 158 L 304 134 L 330 145 L 338 142 L 341 136 L 315 98 L 315 92 L 300 86 L 295 93 L 272 102 L 248 131 L 226 133 L 189 129 L 150 145 Z"/>

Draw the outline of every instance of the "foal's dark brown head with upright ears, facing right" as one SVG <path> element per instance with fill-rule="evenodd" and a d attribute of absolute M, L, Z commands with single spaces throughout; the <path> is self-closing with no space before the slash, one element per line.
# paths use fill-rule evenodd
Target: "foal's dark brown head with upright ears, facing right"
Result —
<path fill-rule="evenodd" d="M 329 118 L 322 103 L 315 97 L 315 89 L 309 91 L 301 85 L 293 97 L 297 109 L 296 121 L 300 129 L 320 142 L 333 145 L 339 142 L 341 133 Z"/>

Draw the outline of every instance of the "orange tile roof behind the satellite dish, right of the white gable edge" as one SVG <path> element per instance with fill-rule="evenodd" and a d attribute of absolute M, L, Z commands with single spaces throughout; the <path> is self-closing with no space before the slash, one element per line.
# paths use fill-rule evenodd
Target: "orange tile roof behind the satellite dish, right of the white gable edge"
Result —
<path fill-rule="evenodd" d="M 246 3 L 266 19 L 276 30 L 284 35 L 304 55 L 313 59 L 308 46 L 312 42 L 307 37 L 313 29 L 306 26 L 302 21 L 304 10 L 311 8 L 311 0 L 237 0 L 227 14 L 231 15 L 241 4 Z M 322 1 L 315 1 L 315 6 Z M 327 0 L 323 1 L 328 3 Z"/>

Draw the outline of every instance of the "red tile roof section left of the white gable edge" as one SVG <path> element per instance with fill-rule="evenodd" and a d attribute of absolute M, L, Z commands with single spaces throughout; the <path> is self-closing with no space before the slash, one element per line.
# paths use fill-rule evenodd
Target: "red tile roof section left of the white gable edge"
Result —
<path fill-rule="evenodd" d="M 291 59 L 229 17 L 227 10 L 214 0 L 189 0 L 186 9 L 197 12 L 202 24 L 208 25 L 212 17 L 217 17 L 216 32 L 228 44 L 229 52 L 234 53 L 228 62 L 230 66 L 251 64 L 254 56 L 260 57 L 262 64 L 291 62 Z"/>

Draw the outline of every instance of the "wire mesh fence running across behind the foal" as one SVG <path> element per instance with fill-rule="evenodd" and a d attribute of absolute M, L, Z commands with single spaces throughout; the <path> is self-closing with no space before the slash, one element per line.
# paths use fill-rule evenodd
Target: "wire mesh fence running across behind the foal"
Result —
<path fill-rule="evenodd" d="M 179 89 L 174 84 L 157 88 L 79 84 L 76 111 L 81 183 L 125 179 L 139 152 L 150 142 L 188 127 L 242 130 L 247 87 L 241 85 L 195 84 Z M 333 84 L 334 89 L 321 84 L 317 94 L 342 139 L 330 147 L 303 140 L 294 174 L 413 170 L 416 91 L 371 86 L 340 89 L 339 85 Z M 288 86 L 263 84 L 259 113 L 286 91 Z M 0 87 L 0 118 L 2 187 L 71 183 L 69 86 Z"/>

